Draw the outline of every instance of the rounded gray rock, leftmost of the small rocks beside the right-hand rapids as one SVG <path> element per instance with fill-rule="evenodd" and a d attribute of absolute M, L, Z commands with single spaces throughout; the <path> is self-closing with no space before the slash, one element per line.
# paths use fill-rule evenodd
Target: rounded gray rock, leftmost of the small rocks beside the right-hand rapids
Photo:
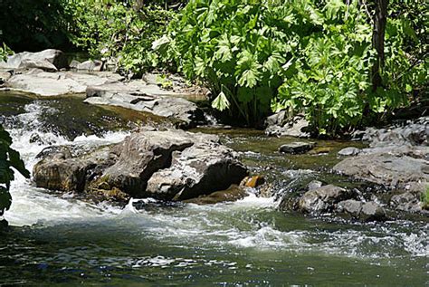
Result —
<path fill-rule="evenodd" d="M 349 199 L 351 193 L 341 187 L 328 185 L 310 190 L 300 197 L 298 209 L 305 213 L 323 213 L 334 210 L 338 202 Z"/>

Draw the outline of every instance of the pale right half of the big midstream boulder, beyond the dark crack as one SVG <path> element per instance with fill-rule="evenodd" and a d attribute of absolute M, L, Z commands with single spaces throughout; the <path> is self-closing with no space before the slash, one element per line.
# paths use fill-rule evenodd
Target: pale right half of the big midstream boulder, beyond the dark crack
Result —
<path fill-rule="evenodd" d="M 247 169 L 233 150 L 213 135 L 193 135 L 195 144 L 173 153 L 171 167 L 157 171 L 148 181 L 148 195 L 185 200 L 239 184 Z"/>

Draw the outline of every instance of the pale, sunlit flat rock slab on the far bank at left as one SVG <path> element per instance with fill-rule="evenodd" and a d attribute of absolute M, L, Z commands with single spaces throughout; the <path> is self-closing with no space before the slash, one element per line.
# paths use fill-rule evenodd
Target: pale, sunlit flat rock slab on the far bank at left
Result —
<path fill-rule="evenodd" d="M 78 72 L 43 72 L 35 69 L 22 74 L 15 74 L 5 83 L 14 90 L 30 92 L 39 96 L 60 96 L 71 93 L 84 93 L 88 86 L 101 85 L 123 79 L 114 73 L 97 75 Z"/>

